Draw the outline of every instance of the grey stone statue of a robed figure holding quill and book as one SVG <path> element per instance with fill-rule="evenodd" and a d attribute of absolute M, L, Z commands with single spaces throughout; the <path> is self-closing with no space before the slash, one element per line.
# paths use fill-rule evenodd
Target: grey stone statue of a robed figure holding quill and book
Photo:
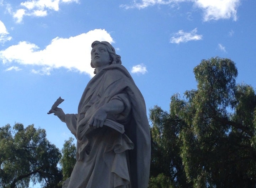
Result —
<path fill-rule="evenodd" d="M 96 75 L 78 113 L 65 114 L 56 105 L 49 111 L 77 139 L 67 188 L 147 188 L 151 139 L 143 96 L 112 45 L 94 41 L 91 56 Z"/>

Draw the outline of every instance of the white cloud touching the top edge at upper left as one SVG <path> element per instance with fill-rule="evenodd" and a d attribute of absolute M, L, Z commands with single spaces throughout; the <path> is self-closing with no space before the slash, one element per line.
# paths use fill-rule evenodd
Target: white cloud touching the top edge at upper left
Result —
<path fill-rule="evenodd" d="M 71 2 L 79 3 L 78 0 L 28 0 L 21 2 L 21 8 L 15 11 L 9 8 L 8 12 L 13 15 L 17 23 L 21 23 L 24 16 L 47 16 L 49 11 L 59 11 L 59 4 Z"/>

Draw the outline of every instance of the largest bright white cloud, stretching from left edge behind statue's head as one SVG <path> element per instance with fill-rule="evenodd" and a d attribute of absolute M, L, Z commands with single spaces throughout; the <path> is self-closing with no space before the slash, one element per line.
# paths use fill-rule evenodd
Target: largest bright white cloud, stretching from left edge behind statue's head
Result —
<path fill-rule="evenodd" d="M 53 39 L 45 49 L 27 41 L 21 41 L 0 51 L 0 59 L 4 64 L 13 62 L 21 65 L 37 65 L 39 69 L 32 70 L 36 74 L 50 74 L 52 69 L 64 67 L 88 74 L 91 77 L 93 69 L 91 62 L 91 44 L 93 41 L 113 42 L 112 37 L 104 29 L 95 29 L 75 37 Z"/>

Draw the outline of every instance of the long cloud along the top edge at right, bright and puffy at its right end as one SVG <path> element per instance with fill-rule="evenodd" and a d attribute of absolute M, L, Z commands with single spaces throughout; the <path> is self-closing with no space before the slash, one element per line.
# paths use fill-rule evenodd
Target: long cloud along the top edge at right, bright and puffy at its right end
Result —
<path fill-rule="evenodd" d="M 181 2 L 193 2 L 193 7 L 203 11 L 203 20 L 230 19 L 237 20 L 236 12 L 240 5 L 240 0 L 133 0 L 133 4 L 120 5 L 122 8 L 143 9 L 154 5 L 172 5 Z M 172 6 L 173 7 L 173 6 Z"/>

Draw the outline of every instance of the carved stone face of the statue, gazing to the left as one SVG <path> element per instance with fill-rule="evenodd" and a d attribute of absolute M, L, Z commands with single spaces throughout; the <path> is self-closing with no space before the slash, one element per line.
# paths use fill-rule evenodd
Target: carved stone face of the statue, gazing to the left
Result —
<path fill-rule="evenodd" d="M 105 45 L 98 44 L 96 45 L 91 52 L 92 65 L 96 68 L 109 65 L 110 55 Z"/>

